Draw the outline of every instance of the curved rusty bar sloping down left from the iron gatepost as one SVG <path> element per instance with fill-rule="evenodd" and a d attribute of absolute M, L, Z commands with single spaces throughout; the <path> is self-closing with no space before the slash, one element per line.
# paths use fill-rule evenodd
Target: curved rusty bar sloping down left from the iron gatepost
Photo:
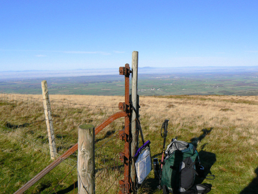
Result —
<path fill-rule="evenodd" d="M 107 118 L 104 122 L 102 122 L 99 126 L 95 128 L 95 135 L 100 132 L 102 129 L 104 129 L 107 125 L 109 125 L 114 120 L 121 118 L 121 117 L 127 117 L 128 115 L 124 111 L 117 112 L 113 115 L 111 115 L 109 118 Z M 45 167 L 42 171 L 40 171 L 35 177 L 33 177 L 31 180 L 29 180 L 25 185 L 23 185 L 21 188 L 19 188 L 14 194 L 22 194 L 25 192 L 28 188 L 30 188 L 32 185 L 34 185 L 38 180 L 40 180 L 42 177 L 44 177 L 47 173 L 49 173 L 53 168 L 55 168 L 58 164 L 63 162 L 65 159 L 67 159 L 68 156 L 70 156 L 72 153 L 74 153 L 76 150 L 78 150 L 78 143 L 74 144 L 73 147 L 68 149 L 64 154 L 60 155 L 58 159 L 56 159 L 54 162 L 49 164 L 47 167 Z"/>

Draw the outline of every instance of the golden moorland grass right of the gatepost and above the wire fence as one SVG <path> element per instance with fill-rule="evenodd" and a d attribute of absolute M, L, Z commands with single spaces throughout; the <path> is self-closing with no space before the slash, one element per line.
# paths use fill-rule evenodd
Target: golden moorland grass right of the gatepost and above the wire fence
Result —
<path fill-rule="evenodd" d="M 26 96 L 42 99 L 41 95 Z M 124 97 L 50 95 L 50 100 L 118 107 Z M 258 161 L 257 105 L 258 96 L 140 96 L 140 120 L 145 139 L 151 140 L 152 156 L 161 157 L 163 139 L 160 127 L 164 119 L 169 119 L 167 144 L 179 136 L 179 140 L 197 144 L 198 150 L 207 156 L 209 153 L 216 155 L 210 166 L 206 162 L 216 175 L 214 181 L 206 181 L 213 185 L 210 193 L 239 193 L 257 176 L 254 173 Z M 58 103 L 55 106 L 55 109 L 60 106 L 60 111 L 64 108 Z M 72 108 L 78 110 L 81 106 Z M 119 111 L 107 109 L 107 115 L 114 110 Z M 84 111 L 80 114 L 83 115 Z M 160 193 L 155 189 L 153 176 L 153 173 L 149 175 L 144 184 L 146 189 L 141 188 L 140 193 Z"/>

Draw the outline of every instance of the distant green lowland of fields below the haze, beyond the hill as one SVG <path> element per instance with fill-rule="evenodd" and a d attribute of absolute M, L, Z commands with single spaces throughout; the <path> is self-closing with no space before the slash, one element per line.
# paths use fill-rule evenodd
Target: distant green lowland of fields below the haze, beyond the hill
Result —
<path fill-rule="evenodd" d="M 41 94 L 47 80 L 50 94 L 123 95 L 124 76 L 79 76 L 0 81 L 0 92 Z M 258 95 L 258 72 L 139 74 L 139 95 Z"/>

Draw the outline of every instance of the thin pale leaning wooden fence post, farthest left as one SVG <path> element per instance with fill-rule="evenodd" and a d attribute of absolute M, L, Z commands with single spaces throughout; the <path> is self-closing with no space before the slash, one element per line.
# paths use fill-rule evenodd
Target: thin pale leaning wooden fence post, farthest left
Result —
<path fill-rule="evenodd" d="M 43 105 L 44 105 L 44 112 L 45 112 L 45 119 L 47 125 L 47 133 L 48 133 L 48 140 L 49 140 L 49 149 L 50 149 L 50 156 L 51 159 L 55 159 L 56 157 L 56 141 L 54 136 L 54 128 L 53 128 L 53 120 L 51 114 L 51 107 L 47 89 L 47 81 L 43 80 L 41 82 L 42 87 L 42 95 L 43 95 Z"/>

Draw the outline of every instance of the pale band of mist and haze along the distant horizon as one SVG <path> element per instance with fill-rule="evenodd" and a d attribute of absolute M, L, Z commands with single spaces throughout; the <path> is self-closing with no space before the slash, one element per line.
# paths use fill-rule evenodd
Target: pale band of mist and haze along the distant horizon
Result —
<path fill-rule="evenodd" d="M 0 80 L 37 79 L 49 77 L 77 77 L 118 75 L 117 68 L 108 69 L 71 69 L 71 70 L 23 70 L 0 71 Z M 139 67 L 138 74 L 171 74 L 171 73 L 229 73 L 241 74 L 258 72 L 258 66 L 194 66 L 194 67 Z"/>

